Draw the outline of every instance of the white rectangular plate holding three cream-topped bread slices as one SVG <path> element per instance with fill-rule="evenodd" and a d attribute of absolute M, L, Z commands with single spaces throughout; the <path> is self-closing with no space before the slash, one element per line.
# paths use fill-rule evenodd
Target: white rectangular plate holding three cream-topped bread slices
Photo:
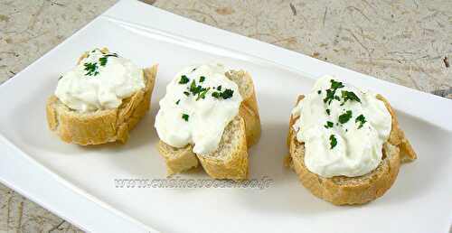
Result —
<path fill-rule="evenodd" d="M 45 101 L 80 53 L 107 46 L 142 67 L 159 63 L 149 114 L 125 145 L 81 147 L 50 132 Z M 165 178 L 154 116 L 165 84 L 188 64 L 220 61 L 254 77 L 262 122 L 250 149 L 256 189 L 120 189 L 114 179 Z M 314 79 L 332 74 L 390 99 L 419 154 L 381 199 L 336 207 L 283 168 L 290 110 Z M 452 219 L 452 101 L 305 55 L 122 1 L 0 86 L 0 181 L 93 232 L 446 232 Z M 207 179 L 202 172 L 183 178 Z"/>

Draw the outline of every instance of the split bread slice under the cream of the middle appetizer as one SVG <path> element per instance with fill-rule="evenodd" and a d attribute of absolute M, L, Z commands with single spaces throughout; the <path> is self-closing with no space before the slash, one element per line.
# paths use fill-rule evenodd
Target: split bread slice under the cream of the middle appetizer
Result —
<path fill-rule="evenodd" d="M 239 114 L 224 129 L 218 148 L 210 154 L 194 154 L 193 146 L 174 148 L 160 141 L 158 150 L 165 159 L 168 175 L 198 166 L 212 178 L 245 180 L 248 177 L 248 148 L 259 141 L 260 118 L 250 74 L 231 70 L 226 77 L 237 83 L 243 98 Z"/>

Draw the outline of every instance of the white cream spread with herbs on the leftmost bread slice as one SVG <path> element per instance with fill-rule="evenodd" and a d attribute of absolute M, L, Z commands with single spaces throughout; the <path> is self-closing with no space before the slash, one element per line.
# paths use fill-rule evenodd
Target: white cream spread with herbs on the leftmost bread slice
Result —
<path fill-rule="evenodd" d="M 123 98 L 145 88 L 143 70 L 116 53 L 89 51 L 58 81 L 55 96 L 80 112 L 119 107 Z"/>

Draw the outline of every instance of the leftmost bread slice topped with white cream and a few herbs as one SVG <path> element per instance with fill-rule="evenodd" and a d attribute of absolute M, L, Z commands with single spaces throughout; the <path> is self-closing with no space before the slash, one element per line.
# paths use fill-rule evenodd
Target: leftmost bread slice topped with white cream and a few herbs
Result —
<path fill-rule="evenodd" d="M 85 52 L 47 100 L 49 128 L 67 143 L 125 143 L 149 109 L 156 72 L 106 48 Z"/>

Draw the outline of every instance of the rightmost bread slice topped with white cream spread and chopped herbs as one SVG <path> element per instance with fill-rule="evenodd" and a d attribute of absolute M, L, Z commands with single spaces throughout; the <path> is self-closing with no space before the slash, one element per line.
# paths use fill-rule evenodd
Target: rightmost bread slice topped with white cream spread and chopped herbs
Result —
<path fill-rule="evenodd" d="M 292 111 L 288 164 L 316 197 L 362 204 L 391 188 L 416 154 L 381 95 L 325 76 Z"/>

